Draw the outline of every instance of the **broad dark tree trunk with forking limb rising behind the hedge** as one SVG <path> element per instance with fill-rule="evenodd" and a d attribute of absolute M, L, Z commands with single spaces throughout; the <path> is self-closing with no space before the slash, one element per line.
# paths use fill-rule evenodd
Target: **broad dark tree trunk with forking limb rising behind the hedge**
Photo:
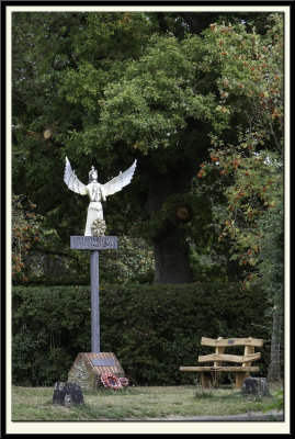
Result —
<path fill-rule="evenodd" d="M 188 120 L 177 147 L 172 150 L 156 149 L 143 160 L 143 175 L 149 176 L 145 209 L 155 249 L 154 282 L 193 282 L 183 224 L 192 219 L 189 198 L 192 179 L 209 146 L 208 126 L 201 121 Z"/>

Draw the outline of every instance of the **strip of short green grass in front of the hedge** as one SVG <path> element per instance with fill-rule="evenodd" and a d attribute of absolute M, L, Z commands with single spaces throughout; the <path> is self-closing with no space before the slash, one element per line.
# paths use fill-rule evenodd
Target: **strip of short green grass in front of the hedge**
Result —
<path fill-rule="evenodd" d="M 243 395 L 232 385 L 200 385 L 83 391 L 84 406 L 53 404 L 54 387 L 12 386 L 12 420 L 146 420 L 166 416 L 224 416 L 260 412 L 275 401 L 281 384 L 269 384 L 270 396 Z"/>

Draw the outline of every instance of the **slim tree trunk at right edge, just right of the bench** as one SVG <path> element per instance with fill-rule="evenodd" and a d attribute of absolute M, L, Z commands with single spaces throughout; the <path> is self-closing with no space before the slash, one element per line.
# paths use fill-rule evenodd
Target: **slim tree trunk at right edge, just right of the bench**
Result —
<path fill-rule="evenodd" d="M 273 324 L 272 324 L 272 344 L 271 344 L 271 361 L 268 370 L 268 381 L 281 381 L 280 368 L 280 337 L 282 315 L 281 307 L 273 307 Z"/>

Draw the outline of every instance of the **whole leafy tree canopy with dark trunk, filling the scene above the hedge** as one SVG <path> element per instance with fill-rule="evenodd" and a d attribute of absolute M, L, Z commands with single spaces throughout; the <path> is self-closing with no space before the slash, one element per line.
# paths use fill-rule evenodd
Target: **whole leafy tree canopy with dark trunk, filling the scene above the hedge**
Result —
<path fill-rule="evenodd" d="M 282 13 L 14 12 L 12 36 L 13 191 L 59 245 L 87 207 L 63 183 L 65 157 L 101 182 L 137 158 L 107 233 L 152 244 L 155 281 L 193 280 L 192 243 L 235 248 L 235 270 L 249 251 L 259 263 L 282 188 Z"/>

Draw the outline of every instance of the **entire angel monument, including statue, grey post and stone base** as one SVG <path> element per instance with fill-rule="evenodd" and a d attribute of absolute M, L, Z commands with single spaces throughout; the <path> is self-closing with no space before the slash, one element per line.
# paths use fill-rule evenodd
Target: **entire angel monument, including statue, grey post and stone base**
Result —
<path fill-rule="evenodd" d="M 100 250 L 117 249 L 116 236 L 104 236 L 105 222 L 101 201 L 121 191 L 132 181 L 136 160 L 124 172 L 120 172 L 104 184 L 98 181 L 98 171 L 92 166 L 89 183 L 83 184 L 71 169 L 66 157 L 64 181 L 67 187 L 80 195 L 88 195 L 90 203 L 87 213 L 84 236 L 71 236 L 70 248 L 90 251 L 90 289 L 91 289 L 91 352 L 80 352 L 69 372 L 69 381 L 80 382 L 82 386 L 95 389 L 98 378 L 103 373 L 116 373 L 124 376 L 113 352 L 101 352 L 100 342 Z"/>

